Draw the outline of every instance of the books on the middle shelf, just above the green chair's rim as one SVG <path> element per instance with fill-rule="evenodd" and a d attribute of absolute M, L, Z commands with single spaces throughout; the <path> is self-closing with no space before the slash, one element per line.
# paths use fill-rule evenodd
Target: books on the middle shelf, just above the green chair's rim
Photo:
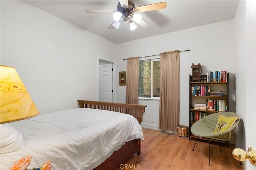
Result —
<path fill-rule="evenodd" d="M 206 104 L 194 104 L 194 109 L 227 111 L 227 102 L 221 99 L 206 99 Z"/>

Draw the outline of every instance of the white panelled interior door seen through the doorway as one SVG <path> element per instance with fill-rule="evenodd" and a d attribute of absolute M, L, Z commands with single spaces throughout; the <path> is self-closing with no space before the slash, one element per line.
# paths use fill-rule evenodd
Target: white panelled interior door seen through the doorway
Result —
<path fill-rule="evenodd" d="M 112 102 L 112 63 L 99 65 L 99 101 Z"/>

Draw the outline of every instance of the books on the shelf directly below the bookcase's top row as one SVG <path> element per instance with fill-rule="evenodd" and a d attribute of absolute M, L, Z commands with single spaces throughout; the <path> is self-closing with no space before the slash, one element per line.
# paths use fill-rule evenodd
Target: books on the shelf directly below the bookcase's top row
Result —
<path fill-rule="evenodd" d="M 221 90 L 211 90 L 211 86 L 199 85 L 199 86 L 190 86 L 191 96 L 224 96 L 224 92 Z"/>

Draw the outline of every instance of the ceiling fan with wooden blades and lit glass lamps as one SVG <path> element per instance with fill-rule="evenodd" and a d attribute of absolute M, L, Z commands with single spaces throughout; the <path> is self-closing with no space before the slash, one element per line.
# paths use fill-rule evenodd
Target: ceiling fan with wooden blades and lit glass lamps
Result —
<path fill-rule="evenodd" d="M 142 27 L 147 27 L 150 25 L 148 22 L 142 19 L 142 16 L 136 14 L 138 12 L 146 12 L 153 10 L 160 10 L 166 8 L 166 2 L 159 2 L 156 4 L 149 4 L 145 6 L 135 7 L 135 4 L 130 0 L 119 0 L 117 4 L 117 10 L 85 10 L 86 13 L 103 13 L 103 12 L 113 12 L 114 22 L 108 27 L 108 29 L 118 29 L 120 23 L 124 23 L 124 21 L 128 21 L 130 25 L 130 30 L 134 30 L 137 28 L 136 24 L 133 22 L 140 24 Z"/>

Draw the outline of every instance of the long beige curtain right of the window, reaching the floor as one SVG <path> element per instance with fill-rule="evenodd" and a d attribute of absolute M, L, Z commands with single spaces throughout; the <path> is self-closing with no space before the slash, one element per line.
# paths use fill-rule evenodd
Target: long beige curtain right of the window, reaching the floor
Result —
<path fill-rule="evenodd" d="M 180 122 L 179 51 L 160 54 L 159 129 L 177 131 Z"/>

